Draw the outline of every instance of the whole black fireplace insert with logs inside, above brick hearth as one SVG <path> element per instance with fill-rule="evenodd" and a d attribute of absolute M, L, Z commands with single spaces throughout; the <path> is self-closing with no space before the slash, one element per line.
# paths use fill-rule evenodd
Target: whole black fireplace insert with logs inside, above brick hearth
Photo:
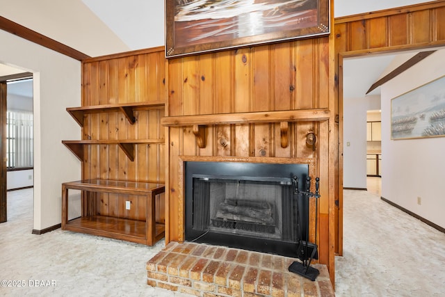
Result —
<path fill-rule="evenodd" d="M 309 207 L 294 193 L 308 164 L 187 161 L 184 173 L 186 241 L 301 258 Z"/>

